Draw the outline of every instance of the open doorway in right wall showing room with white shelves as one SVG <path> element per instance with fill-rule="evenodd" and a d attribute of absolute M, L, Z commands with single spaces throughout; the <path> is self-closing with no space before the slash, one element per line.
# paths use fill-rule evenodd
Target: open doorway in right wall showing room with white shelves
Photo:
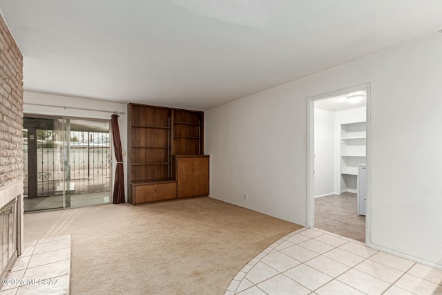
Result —
<path fill-rule="evenodd" d="M 369 85 L 311 97 L 309 226 L 367 242 Z"/>

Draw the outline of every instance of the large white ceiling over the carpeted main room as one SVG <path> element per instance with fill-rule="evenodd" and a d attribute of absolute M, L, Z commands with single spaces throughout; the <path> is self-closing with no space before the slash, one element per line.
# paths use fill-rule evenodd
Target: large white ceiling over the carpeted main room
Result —
<path fill-rule="evenodd" d="M 442 28 L 440 0 L 0 0 L 25 91 L 206 110 Z"/>

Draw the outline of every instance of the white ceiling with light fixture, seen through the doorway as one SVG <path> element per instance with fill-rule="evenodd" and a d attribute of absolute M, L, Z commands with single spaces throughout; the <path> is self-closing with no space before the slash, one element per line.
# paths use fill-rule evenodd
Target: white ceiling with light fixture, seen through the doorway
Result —
<path fill-rule="evenodd" d="M 347 98 L 354 95 L 361 95 L 361 99 L 353 100 Z M 362 108 L 363 106 L 367 106 L 367 91 L 356 91 L 345 95 L 315 100 L 314 104 L 315 108 L 333 112 Z"/>

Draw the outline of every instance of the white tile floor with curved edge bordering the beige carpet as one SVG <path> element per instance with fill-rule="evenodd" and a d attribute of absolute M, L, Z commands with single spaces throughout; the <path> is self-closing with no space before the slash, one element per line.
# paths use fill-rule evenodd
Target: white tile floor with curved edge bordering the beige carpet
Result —
<path fill-rule="evenodd" d="M 304 228 L 241 269 L 227 288 L 233 294 L 442 294 L 442 270 Z"/>

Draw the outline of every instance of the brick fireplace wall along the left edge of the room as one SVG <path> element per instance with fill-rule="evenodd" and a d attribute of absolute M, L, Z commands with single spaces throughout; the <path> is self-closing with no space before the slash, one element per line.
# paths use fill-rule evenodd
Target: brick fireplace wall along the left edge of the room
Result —
<path fill-rule="evenodd" d="M 0 275 L 23 245 L 23 56 L 0 16 Z"/>

